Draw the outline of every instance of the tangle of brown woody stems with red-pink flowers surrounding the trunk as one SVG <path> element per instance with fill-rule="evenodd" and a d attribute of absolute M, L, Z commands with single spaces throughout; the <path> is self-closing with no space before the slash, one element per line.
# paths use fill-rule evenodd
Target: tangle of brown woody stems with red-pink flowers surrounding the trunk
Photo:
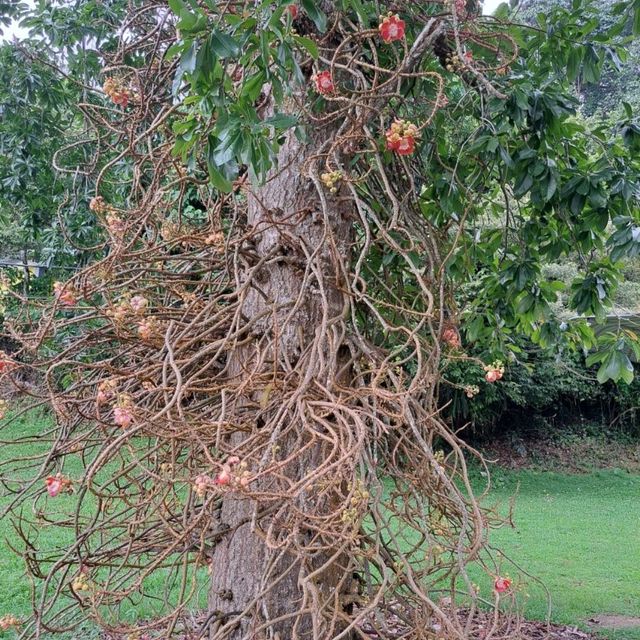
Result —
<path fill-rule="evenodd" d="M 443 367 L 464 357 L 444 265 L 465 216 L 443 232 L 421 214 L 417 151 L 447 108 L 444 70 L 499 97 L 490 78 L 516 49 L 459 0 L 416 4 L 376 28 L 331 11 L 323 35 L 286 9 L 319 50 L 299 52 L 308 86 L 285 105 L 307 138 L 283 133 L 266 181 L 241 167 L 228 194 L 210 189 L 202 156 L 185 166 L 172 153 L 187 114 L 165 55 L 175 16 L 132 7 L 104 95 L 79 105 L 86 135 L 55 159 L 76 171 L 70 152 L 94 150 L 82 170 L 101 257 L 58 283 L 39 322 L 25 316 L 6 359 L 17 386 L 21 368 L 44 372 L 46 393 L 29 393 L 56 415 L 46 447 L 0 464 L 34 585 L 21 637 L 90 617 L 153 637 L 386 638 L 393 615 L 410 637 L 463 638 L 483 597 L 513 598 L 481 555 L 497 518 L 437 402 Z M 200 3 L 217 23 L 249 5 Z M 405 14 L 424 25 L 412 47 Z M 244 73 L 225 63 L 230 95 Z M 265 85 L 256 111 L 276 106 Z M 69 532 L 64 548 L 49 544 L 54 528 Z M 244 599 L 220 587 L 248 566 L 234 556 L 242 531 L 263 548 Z M 472 561 L 496 578 L 490 595 Z M 132 606 L 145 622 L 127 622 Z M 490 635 L 513 624 L 496 617 Z"/>

